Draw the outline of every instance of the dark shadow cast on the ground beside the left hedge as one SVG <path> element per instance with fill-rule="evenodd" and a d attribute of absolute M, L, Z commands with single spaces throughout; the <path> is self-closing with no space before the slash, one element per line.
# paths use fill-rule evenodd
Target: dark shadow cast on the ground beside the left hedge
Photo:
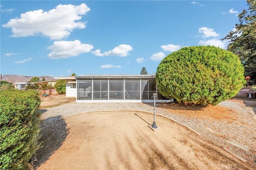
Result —
<path fill-rule="evenodd" d="M 44 119 L 40 124 L 40 129 L 38 143 L 41 146 L 31 162 L 34 168 L 48 160 L 51 154 L 62 145 L 68 134 L 67 124 L 60 115 Z"/>

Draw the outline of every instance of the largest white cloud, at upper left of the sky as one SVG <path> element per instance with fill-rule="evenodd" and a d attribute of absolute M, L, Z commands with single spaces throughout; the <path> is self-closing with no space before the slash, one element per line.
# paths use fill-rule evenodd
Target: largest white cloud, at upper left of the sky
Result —
<path fill-rule="evenodd" d="M 62 39 L 68 37 L 73 29 L 84 29 L 85 22 L 80 22 L 81 15 L 90 11 L 86 4 L 74 6 L 58 5 L 56 8 L 44 12 L 44 10 L 29 11 L 13 18 L 3 27 L 12 28 L 12 37 L 28 37 L 42 35 L 50 39 Z"/>

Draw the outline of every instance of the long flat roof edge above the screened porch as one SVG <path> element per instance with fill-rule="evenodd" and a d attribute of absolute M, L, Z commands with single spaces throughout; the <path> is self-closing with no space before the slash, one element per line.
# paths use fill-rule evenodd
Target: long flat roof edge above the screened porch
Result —
<path fill-rule="evenodd" d="M 134 75 L 123 75 L 123 74 L 107 74 L 107 75 L 81 75 L 75 76 L 75 78 L 156 78 L 156 75 L 141 75 L 141 74 L 134 74 Z"/>

